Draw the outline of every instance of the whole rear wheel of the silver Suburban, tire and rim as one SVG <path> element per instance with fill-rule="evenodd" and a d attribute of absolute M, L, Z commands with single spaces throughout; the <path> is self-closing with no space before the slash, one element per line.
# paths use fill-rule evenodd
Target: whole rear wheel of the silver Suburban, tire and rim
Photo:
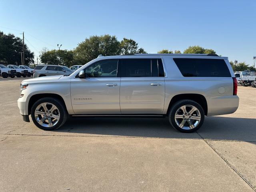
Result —
<path fill-rule="evenodd" d="M 204 110 L 200 104 L 193 100 L 180 100 L 172 106 L 168 118 L 176 130 L 191 133 L 202 126 Z"/>

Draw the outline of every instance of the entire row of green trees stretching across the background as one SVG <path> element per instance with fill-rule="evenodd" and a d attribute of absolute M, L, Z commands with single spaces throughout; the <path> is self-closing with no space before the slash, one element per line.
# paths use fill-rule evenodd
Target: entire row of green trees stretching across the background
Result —
<path fill-rule="evenodd" d="M 4 34 L 0 31 L 0 62 L 4 64 L 21 64 L 22 39 L 13 34 Z M 74 50 L 48 50 L 43 48 L 40 52 L 40 60 L 44 64 L 64 65 L 84 65 L 102 54 L 103 56 L 123 55 L 123 54 L 147 53 L 138 46 L 135 40 L 123 38 L 118 41 L 116 36 L 101 35 L 90 36 L 83 42 L 78 43 Z M 181 54 L 180 50 L 163 49 L 159 54 Z M 216 54 L 213 49 L 206 49 L 201 46 L 189 46 L 183 54 Z M 34 63 L 34 52 L 31 52 L 25 44 L 25 65 Z M 245 62 L 234 64 L 230 61 L 234 71 L 256 70 Z"/>

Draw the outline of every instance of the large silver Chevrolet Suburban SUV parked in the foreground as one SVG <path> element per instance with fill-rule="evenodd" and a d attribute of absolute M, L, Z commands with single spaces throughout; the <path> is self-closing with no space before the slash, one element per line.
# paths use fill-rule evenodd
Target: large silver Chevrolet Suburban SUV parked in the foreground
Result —
<path fill-rule="evenodd" d="M 68 116 L 168 117 L 194 132 L 204 116 L 231 114 L 239 98 L 228 58 L 205 54 L 100 56 L 69 76 L 24 80 L 18 107 L 43 130 Z"/>

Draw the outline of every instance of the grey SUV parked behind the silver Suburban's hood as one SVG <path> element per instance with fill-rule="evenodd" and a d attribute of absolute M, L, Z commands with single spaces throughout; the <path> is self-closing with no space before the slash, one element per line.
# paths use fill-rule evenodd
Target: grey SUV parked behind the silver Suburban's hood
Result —
<path fill-rule="evenodd" d="M 53 76 L 53 75 L 70 75 L 73 71 L 60 65 L 37 65 L 34 69 L 33 77 Z"/>

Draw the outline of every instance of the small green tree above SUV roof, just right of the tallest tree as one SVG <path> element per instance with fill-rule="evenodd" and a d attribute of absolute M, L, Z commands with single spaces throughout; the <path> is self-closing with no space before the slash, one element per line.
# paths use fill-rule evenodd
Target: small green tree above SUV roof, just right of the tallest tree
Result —
<path fill-rule="evenodd" d="M 143 48 L 138 48 L 138 43 L 132 39 L 123 38 L 120 42 L 120 54 L 146 53 Z"/>

